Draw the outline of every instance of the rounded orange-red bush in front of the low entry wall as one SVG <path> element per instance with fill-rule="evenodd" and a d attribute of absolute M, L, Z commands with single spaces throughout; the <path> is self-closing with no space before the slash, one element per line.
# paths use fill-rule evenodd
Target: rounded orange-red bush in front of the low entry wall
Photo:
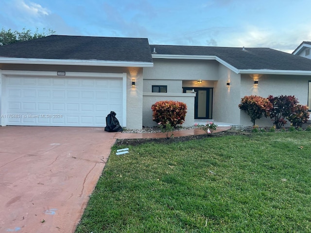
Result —
<path fill-rule="evenodd" d="M 153 111 L 153 120 L 164 127 L 168 123 L 172 127 L 183 124 L 187 113 L 185 103 L 173 100 L 157 101 L 152 105 L 151 109 Z"/>

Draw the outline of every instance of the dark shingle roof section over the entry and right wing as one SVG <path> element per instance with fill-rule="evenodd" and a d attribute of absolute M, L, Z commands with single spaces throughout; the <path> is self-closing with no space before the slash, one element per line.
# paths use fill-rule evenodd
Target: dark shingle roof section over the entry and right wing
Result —
<path fill-rule="evenodd" d="M 156 54 L 217 56 L 231 66 L 244 69 L 311 70 L 311 59 L 269 48 L 150 45 Z"/>

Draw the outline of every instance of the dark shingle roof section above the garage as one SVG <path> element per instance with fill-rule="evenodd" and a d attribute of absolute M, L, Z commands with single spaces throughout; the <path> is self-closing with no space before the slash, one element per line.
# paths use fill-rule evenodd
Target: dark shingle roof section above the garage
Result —
<path fill-rule="evenodd" d="M 0 57 L 152 62 L 147 38 L 50 35 L 0 46 Z"/>

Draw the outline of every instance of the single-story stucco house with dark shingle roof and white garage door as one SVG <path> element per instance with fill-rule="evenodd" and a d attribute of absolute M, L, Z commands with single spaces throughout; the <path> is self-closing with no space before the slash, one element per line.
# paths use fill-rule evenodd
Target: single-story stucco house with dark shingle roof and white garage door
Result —
<path fill-rule="evenodd" d="M 149 45 L 146 38 L 50 35 L 0 46 L 1 126 L 155 126 L 158 100 L 196 119 L 251 125 L 245 95 L 311 102 L 311 60 L 269 48 Z M 310 108 L 309 108 L 310 109 Z M 271 126 L 270 119 L 258 124 Z"/>

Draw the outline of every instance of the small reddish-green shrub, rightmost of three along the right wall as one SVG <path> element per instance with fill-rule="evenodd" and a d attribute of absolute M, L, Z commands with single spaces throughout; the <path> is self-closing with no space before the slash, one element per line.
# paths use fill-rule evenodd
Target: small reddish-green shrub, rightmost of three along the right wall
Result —
<path fill-rule="evenodd" d="M 290 116 L 286 118 L 292 123 L 292 125 L 299 129 L 302 127 L 304 123 L 306 123 L 309 119 L 309 111 L 307 105 L 296 104 L 292 108 L 292 113 Z"/>

